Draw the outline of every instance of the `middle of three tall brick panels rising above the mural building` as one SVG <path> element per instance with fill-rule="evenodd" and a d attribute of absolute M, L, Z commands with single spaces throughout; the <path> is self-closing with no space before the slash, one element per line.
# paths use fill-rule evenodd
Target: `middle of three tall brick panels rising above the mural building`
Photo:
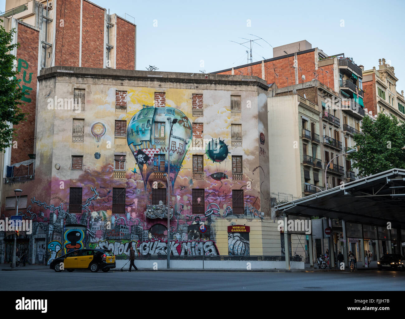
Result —
<path fill-rule="evenodd" d="M 83 1 L 81 66 L 103 68 L 104 50 L 104 10 Z"/>

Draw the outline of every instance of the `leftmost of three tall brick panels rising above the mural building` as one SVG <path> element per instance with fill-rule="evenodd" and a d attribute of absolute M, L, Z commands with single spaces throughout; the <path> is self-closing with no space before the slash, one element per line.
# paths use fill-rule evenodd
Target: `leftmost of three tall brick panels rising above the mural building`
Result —
<path fill-rule="evenodd" d="M 80 0 L 59 0 L 55 16 L 55 66 L 79 66 Z"/>

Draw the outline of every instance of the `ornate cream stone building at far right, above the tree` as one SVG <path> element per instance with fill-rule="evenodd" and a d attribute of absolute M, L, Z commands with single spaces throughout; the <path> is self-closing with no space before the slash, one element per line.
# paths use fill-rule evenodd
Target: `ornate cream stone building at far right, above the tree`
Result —
<path fill-rule="evenodd" d="M 405 121 L 404 91 L 396 91 L 394 67 L 386 63 L 384 58 L 378 59 L 378 70 L 373 66 L 371 70 L 363 71 L 364 101 L 367 111 L 377 116 L 385 113 Z"/>

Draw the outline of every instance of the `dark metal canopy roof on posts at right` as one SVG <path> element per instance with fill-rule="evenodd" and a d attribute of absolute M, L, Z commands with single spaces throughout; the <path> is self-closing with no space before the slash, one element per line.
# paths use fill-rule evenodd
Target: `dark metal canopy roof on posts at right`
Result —
<path fill-rule="evenodd" d="M 275 207 L 288 215 L 329 217 L 405 229 L 405 170 L 394 168 Z"/>

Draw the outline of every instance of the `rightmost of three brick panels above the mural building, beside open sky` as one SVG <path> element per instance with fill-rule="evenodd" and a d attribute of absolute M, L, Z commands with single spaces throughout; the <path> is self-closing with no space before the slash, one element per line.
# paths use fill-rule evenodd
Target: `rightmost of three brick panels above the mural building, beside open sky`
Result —
<path fill-rule="evenodd" d="M 117 17 L 116 68 L 135 70 L 135 26 Z"/>

